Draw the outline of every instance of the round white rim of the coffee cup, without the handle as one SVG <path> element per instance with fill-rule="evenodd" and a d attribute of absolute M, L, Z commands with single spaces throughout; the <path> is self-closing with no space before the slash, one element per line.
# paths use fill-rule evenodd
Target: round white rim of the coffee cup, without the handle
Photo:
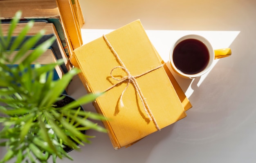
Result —
<path fill-rule="evenodd" d="M 180 43 L 181 41 L 186 40 L 186 39 L 196 39 L 196 40 L 201 41 L 204 45 L 206 45 L 206 47 L 209 51 L 209 56 L 210 56 L 209 63 L 207 64 L 207 66 L 205 67 L 204 70 L 200 71 L 197 74 L 185 74 L 182 71 L 180 71 L 179 69 L 177 69 L 177 67 L 174 65 L 174 62 L 173 62 L 172 56 L 173 56 L 173 50 L 175 49 L 175 46 L 178 43 Z M 203 36 L 200 36 L 197 34 L 189 34 L 189 35 L 185 35 L 185 36 L 178 38 L 174 42 L 173 46 L 171 47 L 170 53 L 169 53 L 169 61 L 171 63 L 171 67 L 177 74 L 179 74 L 180 76 L 185 77 L 185 78 L 196 78 L 196 77 L 200 77 L 203 74 L 207 73 L 207 71 L 209 71 L 209 69 L 211 68 L 211 65 L 213 64 L 213 60 L 214 60 L 214 50 L 213 50 L 213 47 L 211 46 L 211 43 Z"/>

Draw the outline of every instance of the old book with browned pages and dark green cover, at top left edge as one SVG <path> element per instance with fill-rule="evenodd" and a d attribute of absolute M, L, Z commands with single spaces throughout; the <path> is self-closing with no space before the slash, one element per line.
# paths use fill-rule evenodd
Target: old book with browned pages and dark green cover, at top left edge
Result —
<path fill-rule="evenodd" d="M 54 24 L 58 31 L 66 56 L 73 51 L 70 37 L 61 16 L 56 0 L 1 0 L 0 19 L 12 19 L 17 11 L 22 11 L 23 20 L 47 20 Z"/>

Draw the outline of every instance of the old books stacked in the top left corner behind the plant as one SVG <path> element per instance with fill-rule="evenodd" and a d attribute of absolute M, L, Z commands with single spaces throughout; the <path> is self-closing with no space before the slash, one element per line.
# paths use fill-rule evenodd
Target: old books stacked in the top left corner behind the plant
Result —
<path fill-rule="evenodd" d="M 54 44 L 37 62 L 44 65 L 64 59 L 65 63 L 56 68 L 58 77 L 61 78 L 62 74 L 72 68 L 69 58 L 73 50 L 83 44 L 81 27 L 84 18 L 79 0 L 0 0 L 0 19 L 4 35 L 7 34 L 9 23 L 17 11 L 22 11 L 22 17 L 14 31 L 13 40 L 29 20 L 34 20 L 34 26 L 27 33 L 26 39 L 36 35 L 41 29 L 46 32 L 36 45 L 55 36 Z"/>

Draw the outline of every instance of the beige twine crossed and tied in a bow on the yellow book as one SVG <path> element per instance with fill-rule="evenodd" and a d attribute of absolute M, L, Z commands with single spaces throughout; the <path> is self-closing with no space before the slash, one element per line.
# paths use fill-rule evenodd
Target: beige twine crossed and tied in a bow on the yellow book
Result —
<path fill-rule="evenodd" d="M 148 106 L 148 104 L 147 104 L 147 102 L 146 102 L 146 98 L 143 96 L 143 94 L 142 94 L 142 92 L 141 92 L 141 89 L 139 88 L 139 85 L 138 85 L 138 83 L 137 83 L 136 78 L 139 78 L 140 76 L 143 76 L 143 75 L 145 75 L 145 74 L 148 74 L 148 73 L 150 73 L 151 71 L 154 71 L 154 70 L 156 70 L 156 69 L 159 69 L 160 67 L 163 67 L 164 64 L 159 65 L 158 67 L 155 67 L 154 69 L 150 69 L 149 71 L 146 71 L 146 72 L 144 72 L 144 73 L 142 73 L 142 74 L 140 74 L 140 75 L 132 76 L 132 75 L 130 74 L 130 71 L 126 68 L 126 66 L 124 65 L 124 63 L 122 62 L 122 60 L 119 58 L 119 55 L 117 54 L 117 52 L 115 51 L 115 49 L 112 47 L 112 45 L 110 44 L 110 42 L 108 41 L 108 39 L 106 38 L 105 35 L 103 35 L 103 39 L 104 39 L 104 41 L 106 42 L 106 44 L 108 45 L 108 47 L 110 48 L 110 50 L 112 51 L 112 53 L 115 55 L 115 57 L 117 58 L 117 60 L 119 61 L 119 63 L 121 64 L 121 66 L 114 67 L 114 68 L 111 70 L 111 72 L 110 72 L 110 76 L 111 76 L 113 79 L 115 79 L 115 80 L 119 80 L 119 82 L 116 83 L 116 84 L 114 84 L 114 85 L 112 85 L 111 87 L 109 87 L 108 89 L 106 89 L 104 92 L 106 92 L 106 91 L 108 91 L 108 90 L 110 90 L 110 89 L 116 87 L 117 85 L 119 85 L 119 84 L 121 84 L 121 83 L 127 82 L 127 85 L 126 85 L 124 91 L 121 93 L 121 96 L 120 96 L 120 106 L 121 106 L 121 107 L 124 107 L 123 95 L 124 95 L 124 92 L 126 91 L 126 89 L 128 88 L 129 84 L 131 83 L 131 84 L 134 86 L 134 88 L 135 88 L 137 94 L 139 95 L 139 98 L 140 98 L 140 100 L 141 100 L 141 102 L 142 102 L 142 105 L 143 105 L 143 107 L 144 107 L 144 111 L 146 112 L 146 114 L 147 114 L 149 120 L 150 120 L 150 121 L 153 121 L 153 123 L 154 123 L 155 127 L 157 128 L 157 130 L 160 130 L 159 126 L 157 125 L 156 119 L 154 118 L 153 113 L 151 112 L 151 110 L 150 110 L 150 108 L 149 108 L 149 106 Z M 118 68 L 123 69 L 123 70 L 126 72 L 127 76 L 124 76 L 124 77 L 122 77 L 122 78 L 115 78 L 115 77 L 112 75 L 112 72 L 113 72 L 115 69 L 118 69 Z"/>

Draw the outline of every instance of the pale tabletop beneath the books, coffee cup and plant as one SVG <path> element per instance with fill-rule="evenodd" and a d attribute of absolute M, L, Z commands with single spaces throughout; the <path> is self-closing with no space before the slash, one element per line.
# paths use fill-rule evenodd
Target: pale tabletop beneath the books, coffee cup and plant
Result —
<path fill-rule="evenodd" d="M 117 29 L 140 19 L 161 56 L 168 55 L 171 42 L 191 31 L 207 37 L 214 48 L 231 47 L 232 56 L 218 60 L 201 78 L 175 76 L 193 105 L 186 118 L 117 151 L 106 134 L 88 131 L 96 138 L 80 152 L 70 152 L 74 163 L 255 163 L 255 0 L 80 2 L 84 36 L 89 29 Z M 85 94 L 79 78 L 69 93 L 75 98 Z M 85 108 L 94 111 L 91 105 Z"/>

